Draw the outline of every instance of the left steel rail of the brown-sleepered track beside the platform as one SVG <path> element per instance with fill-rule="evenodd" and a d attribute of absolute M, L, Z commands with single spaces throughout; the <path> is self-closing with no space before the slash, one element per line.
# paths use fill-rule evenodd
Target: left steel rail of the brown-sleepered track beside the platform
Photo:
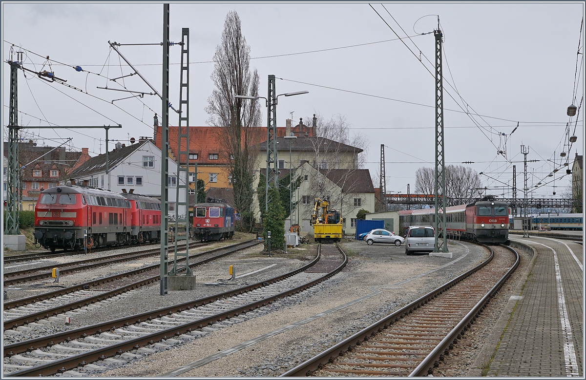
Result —
<path fill-rule="evenodd" d="M 314 372 L 316 369 L 321 369 L 323 363 L 333 361 L 334 358 L 345 353 L 347 350 L 349 350 L 350 347 L 357 346 L 360 344 L 361 341 L 368 340 L 370 337 L 376 335 L 377 333 L 379 333 L 383 329 L 386 329 L 388 326 L 390 326 L 394 322 L 397 322 L 402 317 L 409 315 L 415 309 L 418 309 L 421 306 L 425 305 L 425 303 L 430 302 L 436 296 L 440 295 L 441 293 L 444 293 L 449 288 L 451 288 L 452 286 L 454 286 L 458 282 L 462 281 L 466 277 L 469 277 L 470 275 L 472 275 L 476 271 L 481 270 L 483 267 L 485 267 L 487 264 L 489 264 L 489 262 L 492 261 L 495 256 L 492 248 L 485 246 L 483 244 L 482 244 L 482 246 L 484 246 L 490 250 L 490 256 L 485 261 L 481 262 L 481 264 L 476 265 L 476 267 L 464 272 L 464 274 L 459 275 L 458 277 L 452 279 L 451 281 L 448 281 L 446 284 L 441 285 L 437 289 L 434 289 L 434 290 L 428 292 L 427 294 L 425 294 L 424 296 L 421 296 L 420 298 L 409 303 L 408 305 L 403 306 L 403 308 L 398 309 L 396 312 L 391 313 L 390 315 L 384 317 L 383 319 L 379 320 L 378 322 L 375 322 L 375 323 L 371 324 L 370 326 L 366 327 L 365 329 L 358 331 L 356 334 L 353 334 L 352 336 L 346 338 L 345 340 L 341 341 L 340 343 L 336 344 L 335 346 L 328 348 L 328 350 L 325 350 L 322 353 L 310 358 L 309 360 L 302 362 L 297 367 L 289 369 L 289 371 L 285 372 L 284 374 L 281 374 L 281 376 L 307 376 L 308 374 L 311 374 L 312 372 Z M 516 251 L 515 251 L 515 253 L 516 253 Z M 519 262 L 519 255 L 517 254 L 517 261 L 516 261 L 515 265 L 518 265 L 518 262 Z M 452 340 L 450 340 L 449 342 L 451 343 L 451 341 Z M 441 351 L 441 352 L 443 352 L 443 351 Z"/>

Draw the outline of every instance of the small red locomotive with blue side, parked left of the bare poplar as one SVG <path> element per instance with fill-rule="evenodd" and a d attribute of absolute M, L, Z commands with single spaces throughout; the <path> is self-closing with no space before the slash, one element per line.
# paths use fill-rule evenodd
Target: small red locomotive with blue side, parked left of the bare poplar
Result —
<path fill-rule="evenodd" d="M 210 201 L 210 199 L 208 199 Z M 231 239 L 234 236 L 234 208 L 227 203 L 197 203 L 193 209 L 193 233 L 201 241 Z"/>

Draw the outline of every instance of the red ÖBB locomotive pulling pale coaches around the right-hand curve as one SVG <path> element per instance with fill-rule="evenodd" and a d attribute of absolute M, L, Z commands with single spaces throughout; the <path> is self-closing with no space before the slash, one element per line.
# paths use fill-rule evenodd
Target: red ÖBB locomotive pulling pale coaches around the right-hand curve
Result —
<path fill-rule="evenodd" d="M 477 201 L 446 208 L 446 231 L 480 243 L 506 243 L 509 240 L 509 205 L 501 201 Z M 434 227 L 435 209 L 399 212 L 402 228 L 426 224 Z"/>

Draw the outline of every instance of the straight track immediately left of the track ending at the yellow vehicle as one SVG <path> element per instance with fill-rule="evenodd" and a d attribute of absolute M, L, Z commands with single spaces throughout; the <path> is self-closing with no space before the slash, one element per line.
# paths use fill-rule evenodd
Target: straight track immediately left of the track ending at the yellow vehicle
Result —
<path fill-rule="evenodd" d="M 189 266 L 196 267 L 197 265 L 205 264 L 216 258 L 252 247 L 259 243 L 261 242 L 258 240 L 247 240 L 242 243 L 193 254 L 189 256 L 190 259 L 206 255 L 209 256 L 210 254 L 219 252 L 218 254 L 193 262 Z M 182 260 L 185 260 L 185 258 L 178 259 L 178 261 Z M 158 281 L 159 277 L 160 264 L 154 264 L 137 270 L 89 281 L 84 284 L 69 286 L 58 291 L 6 302 L 4 303 L 4 330 L 29 323 L 36 323 L 46 318 L 63 319 L 66 315 L 71 315 L 72 313 L 75 315 L 76 312 L 72 310 L 76 309 L 78 309 L 78 313 L 83 313 L 85 310 L 93 308 L 93 306 L 89 306 L 93 303 L 101 302 L 105 299 L 122 295 L 132 289 L 138 289 L 141 286 L 151 284 L 151 282 Z M 65 314 L 62 315 L 62 313 Z M 30 330 L 33 326 L 21 327 L 21 329 Z"/>

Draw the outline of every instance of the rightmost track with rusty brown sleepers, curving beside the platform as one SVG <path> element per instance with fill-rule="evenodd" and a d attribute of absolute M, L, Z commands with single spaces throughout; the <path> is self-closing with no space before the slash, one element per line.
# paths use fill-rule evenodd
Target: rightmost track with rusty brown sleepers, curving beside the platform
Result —
<path fill-rule="evenodd" d="M 501 248 L 493 260 L 487 247 L 490 257 L 480 265 L 281 376 L 432 374 L 519 265 L 513 248 L 500 247 L 514 258 Z"/>

